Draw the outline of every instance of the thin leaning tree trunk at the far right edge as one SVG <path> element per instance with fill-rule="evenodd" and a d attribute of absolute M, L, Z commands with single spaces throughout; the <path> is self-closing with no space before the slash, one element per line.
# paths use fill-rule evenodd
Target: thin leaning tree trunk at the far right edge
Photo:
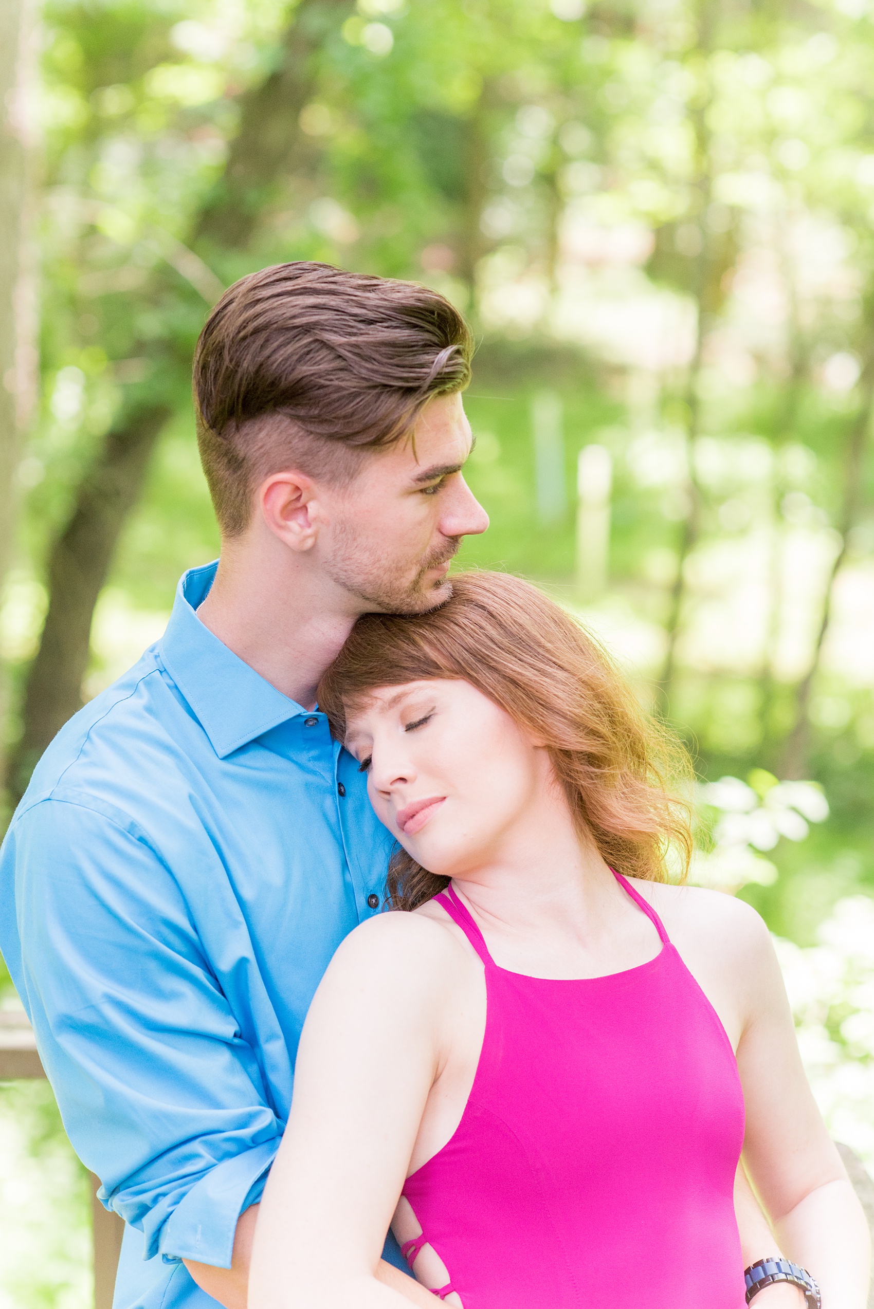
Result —
<path fill-rule="evenodd" d="M 870 329 L 869 329 L 870 330 Z M 805 778 L 810 758 L 810 696 L 823 656 L 826 636 L 833 618 L 835 581 L 840 573 L 849 548 L 849 534 L 858 521 L 860 509 L 865 501 L 865 456 L 867 439 L 874 419 L 874 355 L 870 355 L 862 370 L 862 403 L 850 428 L 846 442 L 846 462 L 844 466 L 844 499 L 839 531 L 841 546 L 837 551 L 823 601 L 823 618 L 814 643 L 814 653 L 807 673 L 795 691 L 795 725 L 786 738 L 780 767 L 781 778 Z"/>

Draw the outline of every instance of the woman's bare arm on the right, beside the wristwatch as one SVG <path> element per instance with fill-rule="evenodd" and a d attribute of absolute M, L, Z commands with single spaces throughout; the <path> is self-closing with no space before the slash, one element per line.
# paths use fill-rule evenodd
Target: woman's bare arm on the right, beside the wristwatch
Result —
<path fill-rule="evenodd" d="M 816 1109 L 770 937 L 752 911 L 743 915 L 738 966 L 746 996 L 738 1045 L 747 1109 L 746 1169 L 778 1249 L 816 1279 L 823 1309 L 865 1309 L 867 1221 Z M 769 1253 L 776 1251 L 756 1258 Z M 761 1309 L 769 1304 L 765 1292 L 756 1301 Z"/>

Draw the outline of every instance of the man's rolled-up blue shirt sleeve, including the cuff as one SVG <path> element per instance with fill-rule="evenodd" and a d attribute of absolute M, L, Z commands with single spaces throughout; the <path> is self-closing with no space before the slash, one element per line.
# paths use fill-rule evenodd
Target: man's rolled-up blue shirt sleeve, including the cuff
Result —
<path fill-rule="evenodd" d="M 104 1204 L 145 1258 L 229 1267 L 284 1124 L 172 870 L 124 814 L 56 798 L 16 819 L 3 864 L 8 962 Z"/>

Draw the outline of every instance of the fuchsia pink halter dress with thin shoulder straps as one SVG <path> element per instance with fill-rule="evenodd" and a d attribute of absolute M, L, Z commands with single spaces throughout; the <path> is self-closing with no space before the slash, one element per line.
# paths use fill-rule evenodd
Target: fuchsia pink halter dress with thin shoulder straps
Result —
<path fill-rule="evenodd" d="M 464 1309 L 744 1309 L 731 1045 L 658 915 L 659 954 L 579 980 L 485 965 L 486 1030 L 461 1122 L 406 1179 Z"/>

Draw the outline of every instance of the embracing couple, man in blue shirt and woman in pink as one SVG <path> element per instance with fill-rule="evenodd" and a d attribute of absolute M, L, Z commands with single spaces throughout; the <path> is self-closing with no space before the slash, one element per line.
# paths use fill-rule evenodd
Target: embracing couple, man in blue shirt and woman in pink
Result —
<path fill-rule="evenodd" d="M 768 933 L 666 880 L 681 755 L 539 590 L 447 576 L 470 355 L 413 284 L 225 293 L 220 560 L 4 842 L 115 1309 L 864 1309 Z"/>

